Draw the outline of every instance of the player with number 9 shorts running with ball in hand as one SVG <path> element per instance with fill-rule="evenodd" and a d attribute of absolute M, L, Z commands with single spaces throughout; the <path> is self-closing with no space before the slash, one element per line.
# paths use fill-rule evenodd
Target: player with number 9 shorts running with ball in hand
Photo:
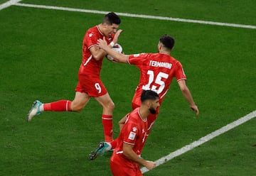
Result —
<path fill-rule="evenodd" d="M 42 111 L 81 111 L 85 105 L 94 97 L 102 106 L 102 124 L 104 128 L 105 141 L 113 141 L 112 137 L 112 111 L 114 103 L 107 89 L 100 79 L 102 60 L 107 55 L 97 45 L 97 40 L 105 38 L 107 47 L 112 48 L 117 43 L 118 30 L 121 20 L 116 13 L 110 12 L 105 15 L 102 23 L 87 30 L 82 41 L 82 63 L 78 72 L 78 84 L 75 88 L 75 99 L 66 99 L 42 104 L 34 101 L 28 113 L 28 121 Z"/>

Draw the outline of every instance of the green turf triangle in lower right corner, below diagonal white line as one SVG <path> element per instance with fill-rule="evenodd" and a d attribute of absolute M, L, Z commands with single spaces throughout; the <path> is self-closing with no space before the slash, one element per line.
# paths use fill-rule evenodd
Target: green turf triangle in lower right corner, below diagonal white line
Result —
<path fill-rule="evenodd" d="M 256 119 L 214 138 L 146 175 L 252 175 Z"/>

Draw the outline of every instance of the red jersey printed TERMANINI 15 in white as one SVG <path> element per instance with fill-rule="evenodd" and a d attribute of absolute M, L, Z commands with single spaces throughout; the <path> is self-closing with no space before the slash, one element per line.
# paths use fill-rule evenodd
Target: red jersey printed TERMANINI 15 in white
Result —
<path fill-rule="evenodd" d="M 143 90 L 153 90 L 159 94 L 159 103 L 163 101 L 174 77 L 179 81 L 186 79 L 181 62 L 171 55 L 164 53 L 142 53 L 129 55 L 127 60 L 130 65 L 136 65 L 141 76 L 139 85 L 132 99 L 133 104 L 140 105 Z"/>

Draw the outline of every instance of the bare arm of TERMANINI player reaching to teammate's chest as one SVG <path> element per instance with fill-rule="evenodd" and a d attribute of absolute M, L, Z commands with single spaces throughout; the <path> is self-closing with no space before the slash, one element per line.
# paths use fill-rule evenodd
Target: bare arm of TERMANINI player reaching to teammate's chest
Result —
<path fill-rule="evenodd" d="M 97 44 L 100 48 L 102 48 L 102 50 L 105 50 L 108 55 L 111 55 L 114 58 L 114 61 L 127 63 L 128 55 L 117 53 L 116 51 L 112 50 L 112 48 L 109 48 L 105 38 L 103 38 L 103 40 L 98 39 Z"/>

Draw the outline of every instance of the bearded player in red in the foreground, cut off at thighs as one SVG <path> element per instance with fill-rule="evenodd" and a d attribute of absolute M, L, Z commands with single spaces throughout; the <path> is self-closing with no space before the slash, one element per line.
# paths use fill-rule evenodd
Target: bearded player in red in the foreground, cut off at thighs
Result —
<path fill-rule="evenodd" d="M 148 135 L 148 116 L 156 114 L 156 109 L 160 106 L 159 95 L 146 90 L 142 92 L 140 99 L 141 105 L 127 114 L 117 147 L 110 159 L 110 168 L 114 176 L 142 175 L 140 165 L 149 170 L 156 167 L 156 163 L 144 160 L 140 155 Z"/>

